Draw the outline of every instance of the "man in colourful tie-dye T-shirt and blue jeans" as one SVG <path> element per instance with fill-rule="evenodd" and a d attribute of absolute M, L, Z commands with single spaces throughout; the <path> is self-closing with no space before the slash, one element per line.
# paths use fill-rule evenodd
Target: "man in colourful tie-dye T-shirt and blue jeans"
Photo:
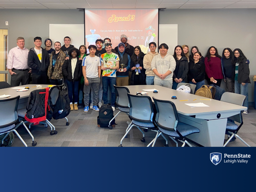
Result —
<path fill-rule="evenodd" d="M 111 52 L 112 44 L 105 44 L 106 53 L 100 57 L 103 85 L 103 101 L 108 104 L 108 86 L 111 92 L 111 107 L 113 111 L 116 110 L 116 91 L 114 85 L 116 84 L 116 69 L 119 68 L 119 57 L 116 53 Z M 106 62 L 105 62 L 106 61 Z"/>

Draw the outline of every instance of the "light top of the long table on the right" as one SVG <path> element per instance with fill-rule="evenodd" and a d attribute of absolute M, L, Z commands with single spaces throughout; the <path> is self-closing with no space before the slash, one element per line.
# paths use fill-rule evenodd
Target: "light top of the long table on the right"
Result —
<path fill-rule="evenodd" d="M 200 100 L 200 99 L 208 99 L 208 98 L 200 97 L 190 93 L 176 91 L 166 87 L 161 87 L 159 85 L 132 85 L 132 86 L 126 86 L 126 87 L 130 90 L 131 94 L 136 94 L 136 92 L 141 92 L 142 89 L 157 89 L 159 90 L 158 93 L 148 92 L 148 96 L 150 96 L 151 98 L 155 97 L 156 99 L 160 99 L 160 100 L 172 101 L 175 104 L 178 113 L 186 116 L 225 113 L 225 112 L 232 112 L 232 111 L 242 111 L 247 109 L 246 107 L 243 107 L 240 105 L 234 105 L 234 104 L 219 101 L 219 100 L 213 100 L 213 99 Z M 177 99 L 171 99 L 172 96 L 176 96 Z M 193 101 L 194 99 L 196 100 Z M 180 101 L 180 100 L 188 100 L 188 101 Z M 185 105 L 185 103 L 204 103 L 209 107 L 190 107 L 188 105 Z"/>

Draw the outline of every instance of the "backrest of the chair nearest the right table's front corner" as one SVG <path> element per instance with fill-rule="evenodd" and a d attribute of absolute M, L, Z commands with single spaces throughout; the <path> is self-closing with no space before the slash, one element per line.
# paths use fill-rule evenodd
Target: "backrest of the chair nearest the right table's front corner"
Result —
<path fill-rule="evenodd" d="M 156 124 L 158 127 L 176 131 L 179 116 L 175 104 L 172 101 L 159 100 L 153 97 L 156 106 Z"/>

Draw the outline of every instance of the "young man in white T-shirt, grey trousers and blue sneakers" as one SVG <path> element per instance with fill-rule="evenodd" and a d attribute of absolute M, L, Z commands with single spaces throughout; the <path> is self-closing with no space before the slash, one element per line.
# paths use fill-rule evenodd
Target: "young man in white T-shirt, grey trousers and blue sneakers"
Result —
<path fill-rule="evenodd" d="M 82 63 L 84 75 L 84 112 L 88 112 L 89 110 L 89 94 L 91 90 L 93 93 L 92 109 L 95 111 L 99 111 L 97 104 L 101 76 L 100 58 L 95 56 L 95 52 L 97 50 L 97 47 L 95 45 L 89 45 L 88 49 L 90 54 L 84 57 Z"/>

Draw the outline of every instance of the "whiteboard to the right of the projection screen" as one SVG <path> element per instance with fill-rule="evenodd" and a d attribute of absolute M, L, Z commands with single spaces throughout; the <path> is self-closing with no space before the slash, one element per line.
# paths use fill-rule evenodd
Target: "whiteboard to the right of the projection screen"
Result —
<path fill-rule="evenodd" d="M 178 25 L 160 24 L 159 25 L 159 45 L 165 43 L 168 45 L 168 53 L 173 55 L 174 48 L 178 45 Z"/>

